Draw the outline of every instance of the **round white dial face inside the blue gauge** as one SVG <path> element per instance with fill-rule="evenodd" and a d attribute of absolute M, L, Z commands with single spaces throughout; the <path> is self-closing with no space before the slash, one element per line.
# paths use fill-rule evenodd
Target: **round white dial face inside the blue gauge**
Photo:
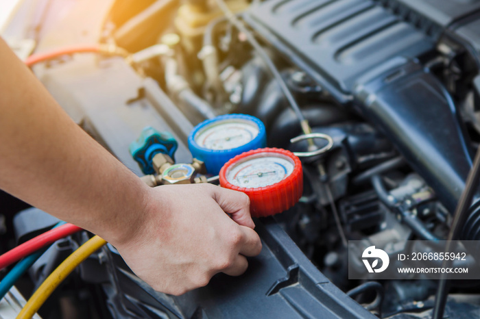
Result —
<path fill-rule="evenodd" d="M 195 142 L 211 150 L 236 149 L 259 135 L 259 127 L 249 120 L 219 120 L 195 134 Z"/>

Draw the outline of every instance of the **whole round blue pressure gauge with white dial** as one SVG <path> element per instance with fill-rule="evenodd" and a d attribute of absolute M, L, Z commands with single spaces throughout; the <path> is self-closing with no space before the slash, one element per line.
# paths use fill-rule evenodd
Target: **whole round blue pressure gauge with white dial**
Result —
<path fill-rule="evenodd" d="M 232 157 L 267 144 L 265 125 L 245 114 L 217 116 L 197 125 L 189 136 L 189 149 L 196 159 L 205 162 L 212 175 Z"/>

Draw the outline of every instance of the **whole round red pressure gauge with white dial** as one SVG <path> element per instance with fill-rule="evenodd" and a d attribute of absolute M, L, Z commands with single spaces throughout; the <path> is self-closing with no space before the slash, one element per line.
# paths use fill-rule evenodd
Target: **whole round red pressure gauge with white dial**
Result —
<path fill-rule="evenodd" d="M 248 151 L 221 168 L 220 185 L 247 194 L 252 216 L 278 214 L 295 205 L 302 196 L 302 164 L 285 149 Z"/>

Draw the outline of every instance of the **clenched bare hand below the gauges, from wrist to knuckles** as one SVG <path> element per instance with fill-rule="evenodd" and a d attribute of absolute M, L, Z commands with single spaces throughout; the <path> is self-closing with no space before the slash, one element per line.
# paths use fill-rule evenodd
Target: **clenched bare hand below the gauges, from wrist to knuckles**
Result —
<path fill-rule="evenodd" d="M 248 267 L 245 256 L 260 253 L 247 195 L 209 184 L 149 192 L 141 227 L 112 244 L 154 290 L 178 296 L 207 285 L 218 272 L 239 276 Z"/>

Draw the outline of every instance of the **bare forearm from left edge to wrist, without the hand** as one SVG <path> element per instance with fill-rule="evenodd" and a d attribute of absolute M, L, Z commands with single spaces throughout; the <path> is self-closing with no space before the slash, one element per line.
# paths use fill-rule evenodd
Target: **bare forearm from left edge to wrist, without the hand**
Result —
<path fill-rule="evenodd" d="M 134 231 L 147 186 L 73 123 L 3 40 L 0 88 L 0 188 L 112 242 Z"/>

